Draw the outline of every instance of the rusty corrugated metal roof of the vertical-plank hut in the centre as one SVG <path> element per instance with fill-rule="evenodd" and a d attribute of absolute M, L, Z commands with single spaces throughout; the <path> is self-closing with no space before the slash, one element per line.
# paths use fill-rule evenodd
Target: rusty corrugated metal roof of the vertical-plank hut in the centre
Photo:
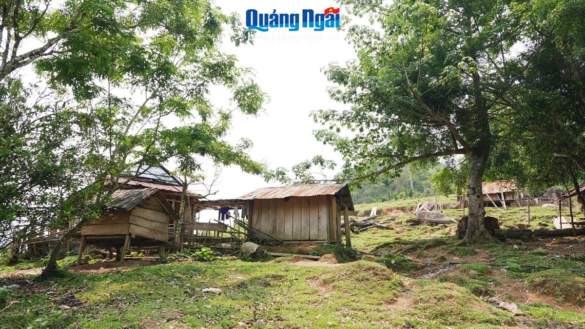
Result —
<path fill-rule="evenodd" d="M 239 197 L 240 200 L 277 199 L 287 197 L 314 197 L 339 195 L 341 201 L 353 210 L 352 196 L 346 183 L 309 184 L 281 187 L 263 187 Z"/>

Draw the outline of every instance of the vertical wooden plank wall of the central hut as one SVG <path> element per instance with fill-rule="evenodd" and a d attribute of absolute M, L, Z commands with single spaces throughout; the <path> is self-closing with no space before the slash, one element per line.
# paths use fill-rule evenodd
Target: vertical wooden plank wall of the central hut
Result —
<path fill-rule="evenodd" d="M 256 199 L 250 225 L 281 241 L 338 241 L 340 216 L 333 196 Z"/>

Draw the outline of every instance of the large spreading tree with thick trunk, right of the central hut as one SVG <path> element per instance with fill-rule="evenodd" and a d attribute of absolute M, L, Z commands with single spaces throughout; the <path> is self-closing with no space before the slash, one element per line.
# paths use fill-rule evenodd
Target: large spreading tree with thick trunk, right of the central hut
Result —
<path fill-rule="evenodd" d="M 541 43 L 517 51 L 526 26 L 509 1 L 347 1 L 372 26 L 350 26 L 357 59 L 330 64 L 334 100 L 347 111 L 321 110 L 315 133 L 346 159 L 357 181 L 438 157 L 469 159 L 469 227 L 463 243 L 491 238 L 483 226 L 481 182 L 512 87 Z M 515 49 L 512 49 L 515 46 Z M 342 136 L 347 129 L 352 138 Z M 373 171 L 371 168 L 381 167 Z"/>

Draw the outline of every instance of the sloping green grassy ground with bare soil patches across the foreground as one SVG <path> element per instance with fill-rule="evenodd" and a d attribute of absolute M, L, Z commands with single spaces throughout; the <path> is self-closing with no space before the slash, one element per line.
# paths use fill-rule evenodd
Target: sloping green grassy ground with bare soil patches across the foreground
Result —
<path fill-rule="evenodd" d="M 535 222 L 551 226 L 556 211 L 531 207 Z M 459 212 L 445 210 L 456 218 Z M 527 220 L 522 208 L 487 212 L 501 225 Z M 44 280 L 5 277 L 2 285 L 21 287 L 0 289 L 0 328 L 585 328 L 585 273 L 567 271 L 585 268 L 579 237 L 459 246 L 451 227 L 396 227 L 411 217 L 400 215 L 394 229 L 352 235 L 356 249 L 383 257 L 348 262 L 356 254 L 333 245 L 275 250 L 332 253 L 346 262 L 339 265 L 226 256 L 104 262 Z M 21 262 L 0 272 L 39 265 Z M 202 292 L 209 287 L 221 294 Z M 498 307 L 502 302 L 516 304 L 520 314 Z"/>

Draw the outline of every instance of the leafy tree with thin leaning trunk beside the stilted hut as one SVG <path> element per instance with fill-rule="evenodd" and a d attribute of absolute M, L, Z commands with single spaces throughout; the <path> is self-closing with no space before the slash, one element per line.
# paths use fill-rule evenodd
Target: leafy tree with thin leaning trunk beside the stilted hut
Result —
<path fill-rule="evenodd" d="M 15 6 L 28 13 L 12 15 L 16 23 L 3 20 L 3 28 L 22 31 L 27 26 L 30 11 L 36 9 L 22 4 Z M 250 40 L 237 16 L 223 15 L 209 1 L 95 0 L 66 2 L 63 8 L 47 9 L 50 15 L 43 13 L 43 20 L 33 24 L 31 35 L 67 33 L 59 42 L 45 40 L 54 51 L 30 62 L 51 90 L 73 95 L 72 108 L 85 114 L 85 130 L 73 142 L 79 143 L 77 151 L 84 155 L 89 174 L 81 186 L 64 195 L 74 209 L 60 208 L 51 216 L 53 224 L 70 214 L 78 220 L 51 252 L 47 270 L 56 268 L 63 241 L 101 214 L 120 186 L 120 174 L 132 166 L 177 159 L 181 170 L 198 170 L 207 158 L 249 173 L 264 170 L 247 155 L 248 140 L 235 146 L 222 140 L 234 111 L 256 115 L 266 101 L 249 70 L 217 49 L 224 25 L 232 26 L 236 44 Z M 72 12 L 80 14 L 71 16 Z M 67 28 L 71 17 L 79 18 L 74 29 Z M 11 41 L 6 44 L 18 53 L 24 37 L 16 35 L 9 33 Z M 6 64 L 3 77 L 15 73 L 14 67 Z M 211 85 L 231 91 L 234 107 L 214 108 L 208 97 Z M 167 126 L 168 122 L 180 125 Z M 51 223 L 42 224 L 40 228 Z"/>

